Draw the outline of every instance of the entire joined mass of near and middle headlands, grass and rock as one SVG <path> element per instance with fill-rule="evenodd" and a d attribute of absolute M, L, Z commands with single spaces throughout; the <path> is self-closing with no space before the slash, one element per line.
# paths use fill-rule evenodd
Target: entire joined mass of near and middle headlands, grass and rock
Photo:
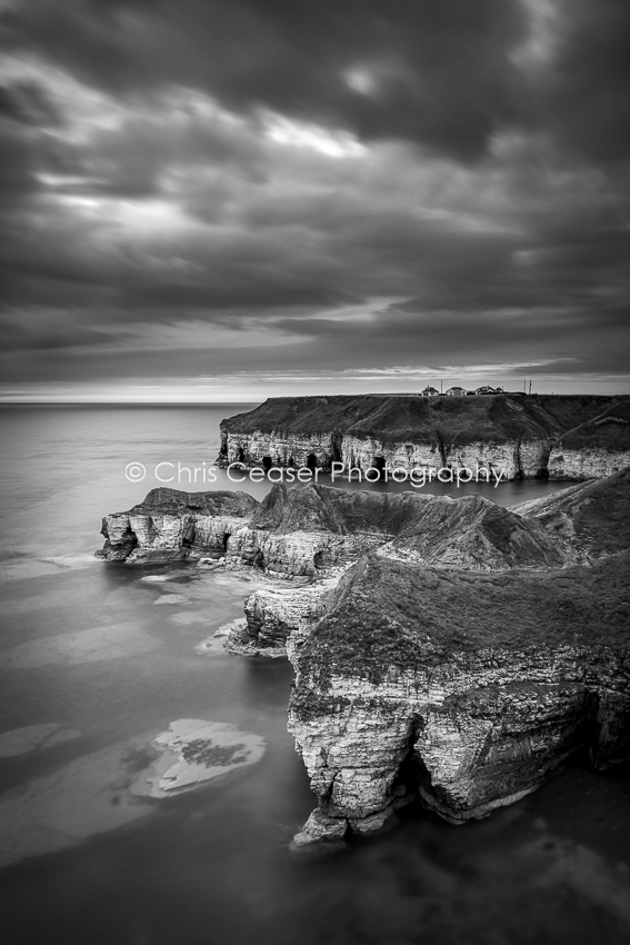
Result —
<path fill-rule="evenodd" d="M 420 796 L 451 823 L 569 754 L 630 759 L 630 470 L 513 509 L 479 496 L 153 490 L 110 560 L 256 566 L 233 651 L 296 667 L 289 728 L 319 806 L 297 844 Z"/>

